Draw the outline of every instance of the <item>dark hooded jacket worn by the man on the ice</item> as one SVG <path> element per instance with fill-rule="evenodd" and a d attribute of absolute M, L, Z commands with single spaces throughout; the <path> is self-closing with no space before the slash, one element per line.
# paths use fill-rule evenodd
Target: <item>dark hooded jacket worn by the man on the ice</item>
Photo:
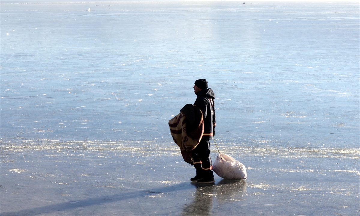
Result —
<path fill-rule="evenodd" d="M 196 93 L 197 98 L 195 100 L 194 106 L 200 108 L 203 113 L 204 120 L 204 134 L 203 138 L 211 139 L 215 136 L 215 126 L 216 126 L 216 118 L 215 118 L 215 106 L 214 99 L 215 93 L 211 88 L 203 89 Z"/>

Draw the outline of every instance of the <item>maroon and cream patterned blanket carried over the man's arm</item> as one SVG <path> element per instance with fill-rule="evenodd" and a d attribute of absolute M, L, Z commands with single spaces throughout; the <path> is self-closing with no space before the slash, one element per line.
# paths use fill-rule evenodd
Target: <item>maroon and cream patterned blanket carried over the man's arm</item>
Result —
<path fill-rule="evenodd" d="M 202 117 L 198 127 L 191 133 L 186 131 L 185 119 L 185 114 L 180 112 L 169 121 L 171 136 L 177 146 L 180 147 L 181 153 L 183 153 L 183 151 L 192 151 L 199 144 L 204 133 L 204 120 Z"/>

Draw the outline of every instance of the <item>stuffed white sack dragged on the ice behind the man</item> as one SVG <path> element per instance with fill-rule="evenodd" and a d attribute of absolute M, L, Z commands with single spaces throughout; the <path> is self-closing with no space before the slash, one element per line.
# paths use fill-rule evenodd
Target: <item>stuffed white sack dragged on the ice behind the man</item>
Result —
<path fill-rule="evenodd" d="M 219 153 L 212 170 L 224 179 L 246 179 L 246 168 L 230 155 Z"/>

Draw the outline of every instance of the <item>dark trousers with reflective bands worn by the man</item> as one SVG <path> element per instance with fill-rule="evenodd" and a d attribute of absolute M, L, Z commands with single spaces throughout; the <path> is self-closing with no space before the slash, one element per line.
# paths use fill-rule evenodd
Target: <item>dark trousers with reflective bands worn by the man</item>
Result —
<path fill-rule="evenodd" d="M 192 151 L 193 164 L 196 175 L 203 177 L 213 177 L 212 162 L 210 158 L 210 140 L 208 137 L 202 138 L 198 146 Z"/>

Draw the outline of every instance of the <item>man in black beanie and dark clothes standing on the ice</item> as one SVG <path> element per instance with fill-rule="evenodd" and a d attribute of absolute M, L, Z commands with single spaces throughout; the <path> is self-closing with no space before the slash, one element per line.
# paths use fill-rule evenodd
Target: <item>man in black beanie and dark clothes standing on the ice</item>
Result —
<path fill-rule="evenodd" d="M 195 81 L 194 93 L 197 96 L 194 106 L 199 107 L 203 114 L 204 134 L 198 146 L 192 151 L 196 176 L 190 180 L 200 184 L 212 184 L 215 180 L 210 158 L 210 139 L 215 136 L 215 93 L 208 88 L 206 79 Z"/>

